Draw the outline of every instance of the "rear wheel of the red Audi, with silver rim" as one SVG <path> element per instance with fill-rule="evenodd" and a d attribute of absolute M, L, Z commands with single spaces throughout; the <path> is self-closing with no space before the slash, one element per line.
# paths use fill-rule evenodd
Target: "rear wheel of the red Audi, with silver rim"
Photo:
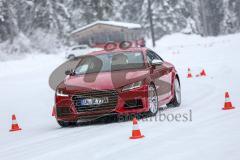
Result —
<path fill-rule="evenodd" d="M 176 85 L 179 86 L 179 91 L 176 91 Z M 179 93 L 177 93 L 179 92 Z M 179 94 L 178 97 L 176 94 Z M 167 107 L 179 107 L 181 105 L 181 85 L 179 79 L 176 77 L 174 80 L 174 97 L 173 99 L 167 104 Z"/>

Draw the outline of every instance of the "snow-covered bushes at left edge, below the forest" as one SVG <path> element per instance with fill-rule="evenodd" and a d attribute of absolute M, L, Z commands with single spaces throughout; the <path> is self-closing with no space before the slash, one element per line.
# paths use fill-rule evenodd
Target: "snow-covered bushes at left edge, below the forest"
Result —
<path fill-rule="evenodd" d="M 20 33 L 12 43 L 9 40 L 0 43 L 0 62 L 22 59 L 26 54 L 57 54 L 63 52 L 65 48 L 54 33 L 47 34 L 36 30 L 29 38 Z"/>

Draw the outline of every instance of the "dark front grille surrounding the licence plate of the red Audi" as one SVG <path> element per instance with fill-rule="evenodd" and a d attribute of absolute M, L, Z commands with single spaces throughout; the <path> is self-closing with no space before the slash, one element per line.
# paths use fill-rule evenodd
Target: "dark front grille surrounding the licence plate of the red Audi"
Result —
<path fill-rule="evenodd" d="M 91 99 L 91 98 L 102 98 L 108 97 L 108 103 L 98 104 L 98 105 L 86 105 L 81 106 L 81 99 Z M 78 93 L 72 96 L 74 106 L 78 112 L 87 111 L 101 111 L 115 109 L 118 101 L 118 93 L 116 90 L 91 90 L 89 92 Z"/>

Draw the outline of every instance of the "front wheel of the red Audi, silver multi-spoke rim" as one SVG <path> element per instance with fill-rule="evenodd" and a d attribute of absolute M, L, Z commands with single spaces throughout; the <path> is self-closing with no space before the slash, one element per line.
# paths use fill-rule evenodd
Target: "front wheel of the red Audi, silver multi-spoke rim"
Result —
<path fill-rule="evenodd" d="M 155 116 L 158 113 L 158 96 L 154 85 L 149 85 L 148 87 L 148 106 L 149 115 Z"/>

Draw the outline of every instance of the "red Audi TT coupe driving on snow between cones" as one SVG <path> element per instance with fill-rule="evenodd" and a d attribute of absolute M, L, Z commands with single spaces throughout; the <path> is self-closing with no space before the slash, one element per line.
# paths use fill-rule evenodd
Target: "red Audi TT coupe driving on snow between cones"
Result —
<path fill-rule="evenodd" d="M 176 69 L 148 48 L 92 52 L 66 75 L 54 106 L 63 127 L 115 114 L 154 116 L 165 104 L 181 104 Z"/>

